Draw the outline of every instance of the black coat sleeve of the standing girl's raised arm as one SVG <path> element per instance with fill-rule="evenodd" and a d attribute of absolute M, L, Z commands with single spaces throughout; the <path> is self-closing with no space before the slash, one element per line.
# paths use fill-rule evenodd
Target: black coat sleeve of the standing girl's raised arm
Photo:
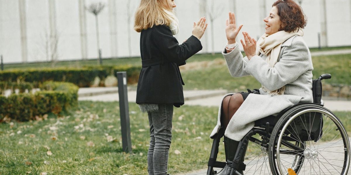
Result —
<path fill-rule="evenodd" d="M 172 35 L 171 30 L 165 25 L 154 26 L 152 38 L 154 44 L 165 55 L 168 62 L 181 64 L 202 49 L 200 40 L 193 35 L 179 45 L 177 38 Z"/>

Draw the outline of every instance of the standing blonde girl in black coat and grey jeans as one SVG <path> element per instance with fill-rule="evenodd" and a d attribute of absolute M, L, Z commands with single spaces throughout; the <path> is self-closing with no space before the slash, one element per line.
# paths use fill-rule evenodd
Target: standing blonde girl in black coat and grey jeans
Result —
<path fill-rule="evenodd" d="M 194 22 L 192 36 L 178 43 L 179 31 L 172 12 L 174 0 L 141 0 L 135 13 L 134 30 L 140 32 L 142 69 L 137 87 L 137 104 L 147 112 L 150 147 L 147 170 L 150 175 L 166 175 L 168 151 L 172 138 L 173 106 L 184 104 L 183 79 L 179 66 L 202 49 L 200 38 L 207 24 L 205 18 Z"/>

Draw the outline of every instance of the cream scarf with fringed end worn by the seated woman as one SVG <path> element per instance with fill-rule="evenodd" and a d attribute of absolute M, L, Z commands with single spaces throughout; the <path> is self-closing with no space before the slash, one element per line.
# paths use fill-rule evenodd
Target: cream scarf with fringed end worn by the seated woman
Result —
<path fill-rule="evenodd" d="M 283 30 L 278 31 L 277 33 L 274 33 L 272 35 L 262 35 L 257 41 L 256 55 L 266 55 L 266 62 L 271 68 L 273 68 L 274 65 L 277 63 L 282 43 L 295 35 L 303 36 L 304 32 L 302 31 L 302 29 L 290 33 Z M 270 91 L 262 85 L 262 89 L 263 91 L 268 92 L 268 94 L 271 95 L 283 95 L 285 91 L 285 86 L 281 87 L 280 89 Z"/>

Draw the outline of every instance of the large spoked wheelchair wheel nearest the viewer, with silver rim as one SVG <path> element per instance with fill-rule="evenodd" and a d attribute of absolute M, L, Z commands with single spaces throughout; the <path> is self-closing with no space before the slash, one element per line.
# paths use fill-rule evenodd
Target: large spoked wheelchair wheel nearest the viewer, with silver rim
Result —
<path fill-rule="evenodd" d="M 301 104 L 278 120 L 268 155 L 273 175 L 288 175 L 289 168 L 303 175 L 346 175 L 350 143 L 331 111 L 318 104 Z"/>

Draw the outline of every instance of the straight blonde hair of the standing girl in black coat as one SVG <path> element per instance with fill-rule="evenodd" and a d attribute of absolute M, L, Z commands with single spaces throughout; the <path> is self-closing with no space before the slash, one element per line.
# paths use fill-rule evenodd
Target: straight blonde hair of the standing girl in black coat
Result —
<path fill-rule="evenodd" d="M 141 32 L 141 30 L 152 28 L 153 25 L 167 25 L 172 23 L 172 17 L 165 12 L 161 6 L 163 0 L 141 0 L 140 5 L 135 12 L 134 30 Z"/>

